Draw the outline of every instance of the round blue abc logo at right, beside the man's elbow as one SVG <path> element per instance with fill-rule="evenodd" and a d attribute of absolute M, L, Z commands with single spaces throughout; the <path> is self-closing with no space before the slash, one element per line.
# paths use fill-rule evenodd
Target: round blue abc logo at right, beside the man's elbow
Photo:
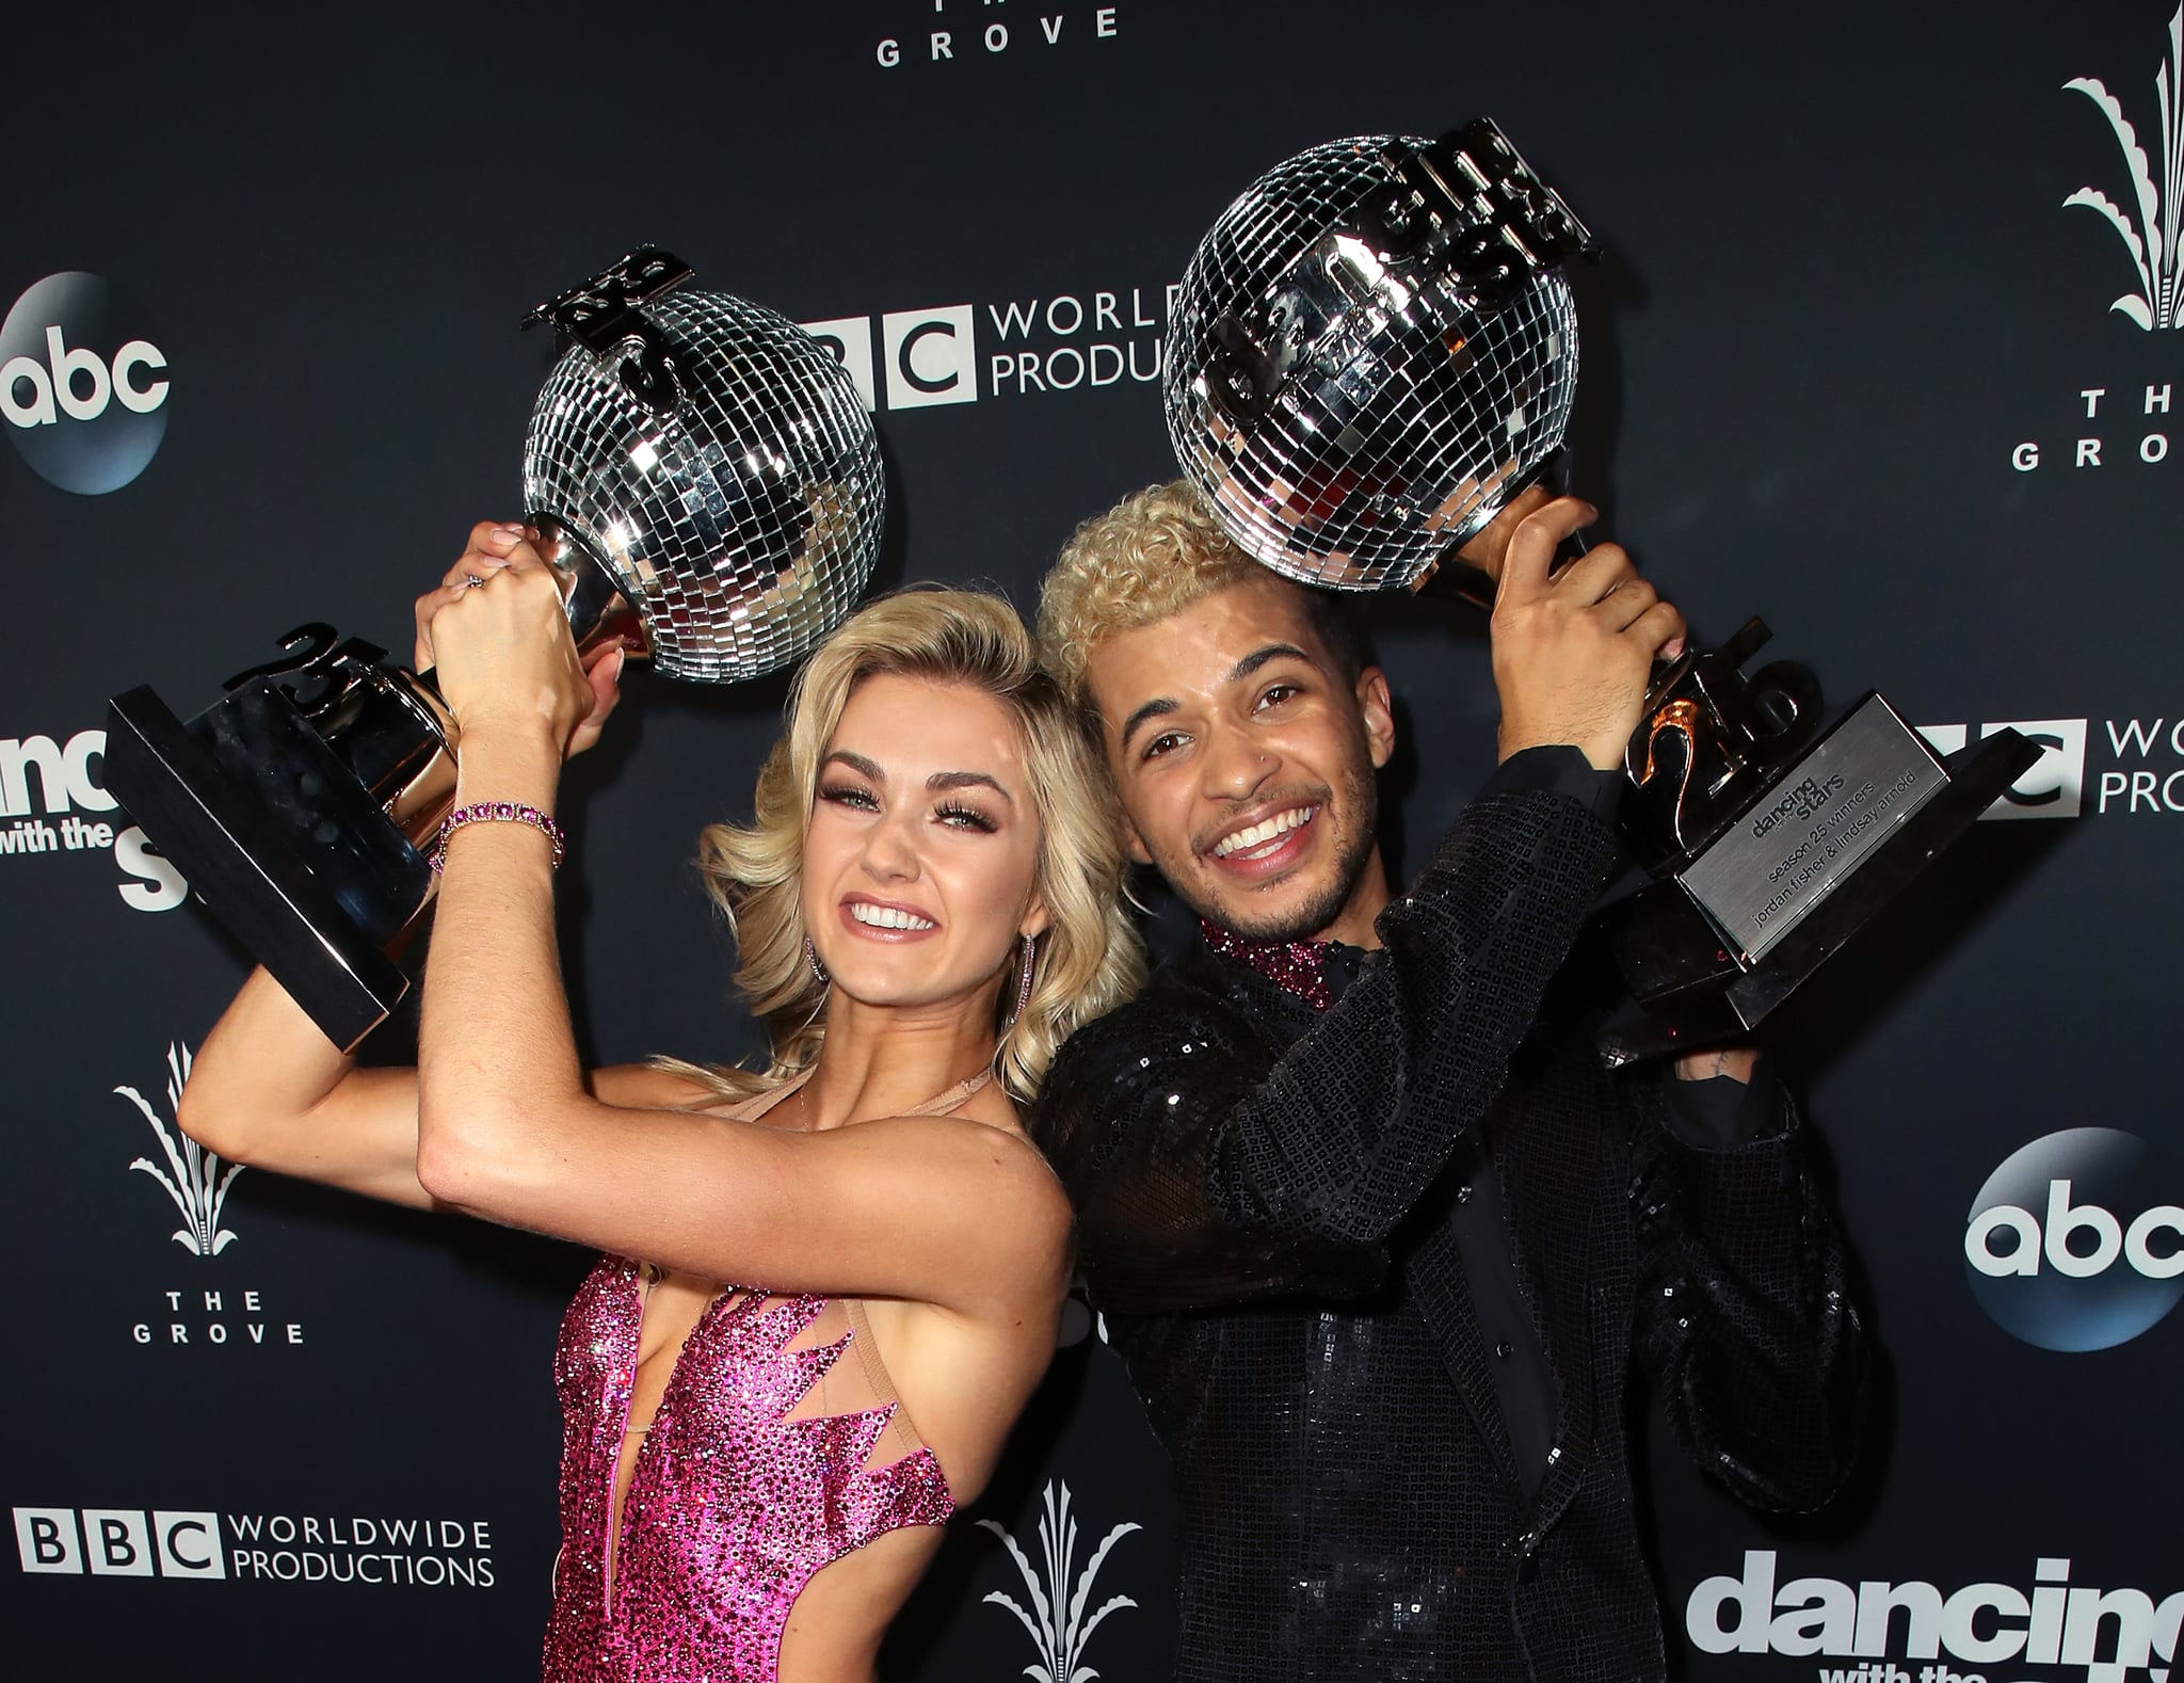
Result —
<path fill-rule="evenodd" d="M 2118 1129 L 2064 1129 L 2014 1153 L 1972 1201 L 1963 1264 L 2003 1332 L 2108 1349 L 2184 1297 L 2184 1174 Z"/>

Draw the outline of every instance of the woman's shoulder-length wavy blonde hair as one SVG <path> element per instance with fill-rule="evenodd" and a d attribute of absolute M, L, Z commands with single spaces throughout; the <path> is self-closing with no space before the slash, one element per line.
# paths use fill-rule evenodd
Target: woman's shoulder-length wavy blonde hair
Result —
<path fill-rule="evenodd" d="M 804 958 L 804 829 L 819 760 L 841 712 L 869 677 L 965 683 L 1016 718 L 1040 816 L 1037 891 L 1048 926 L 1035 941 L 1031 998 L 1013 1022 L 996 1015 L 994 1070 L 1029 1102 L 1061 1041 L 1144 980 L 1144 945 L 1123 910 L 1123 847 L 1107 771 L 1053 679 L 1031 633 L 1000 596 L 906 589 L 869 602 L 797 672 L 788 727 L 758 773 L 751 823 L 699 836 L 705 891 L 727 917 L 740 967 L 736 989 L 767 1028 L 764 1072 L 655 1059 L 723 1098 L 745 1098 L 810 1067 L 826 1041 L 828 987 Z M 1013 971 L 1011 971 L 1013 976 Z M 1016 1002 L 1002 984 L 996 1013 Z"/>

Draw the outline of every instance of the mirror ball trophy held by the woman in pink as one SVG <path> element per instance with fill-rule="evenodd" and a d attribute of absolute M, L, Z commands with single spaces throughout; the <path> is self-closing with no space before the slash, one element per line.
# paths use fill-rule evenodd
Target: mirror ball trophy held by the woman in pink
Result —
<path fill-rule="evenodd" d="M 784 317 L 675 293 L 644 247 L 524 325 L 559 360 L 531 410 L 524 509 L 590 661 L 771 672 L 856 605 L 880 546 L 880 445 L 850 373 Z M 430 897 L 454 720 L 430 672 L 290 631 L 183 725 L 149 688 L 107 712 L 107 784 L 336 1046 L 408 989 L 387 945 Z"/>

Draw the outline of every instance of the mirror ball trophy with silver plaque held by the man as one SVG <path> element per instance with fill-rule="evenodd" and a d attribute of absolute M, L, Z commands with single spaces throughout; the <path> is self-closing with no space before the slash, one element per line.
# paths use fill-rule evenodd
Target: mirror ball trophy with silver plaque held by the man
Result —
<path fill-rule="evenodd" d="M 1492 605 L 1455 552 L 1562 447 L 1562 268 L 1592 249 L 1485 120 L 1278 164 L 1184 271 L 1162 386 L 1184 474 L 1289 578 Z M 1749 620 L 1653 672 L 1621 821 L 1651 880 L 1599 908 L 1631 995 L 1610 1065 L 1749 1030 L 2038 760 L 2016 731 L 1937 760 L 1878 694 L 1821 731 L 1806 668 L 1743 672 L 1767 637 Z"/>

